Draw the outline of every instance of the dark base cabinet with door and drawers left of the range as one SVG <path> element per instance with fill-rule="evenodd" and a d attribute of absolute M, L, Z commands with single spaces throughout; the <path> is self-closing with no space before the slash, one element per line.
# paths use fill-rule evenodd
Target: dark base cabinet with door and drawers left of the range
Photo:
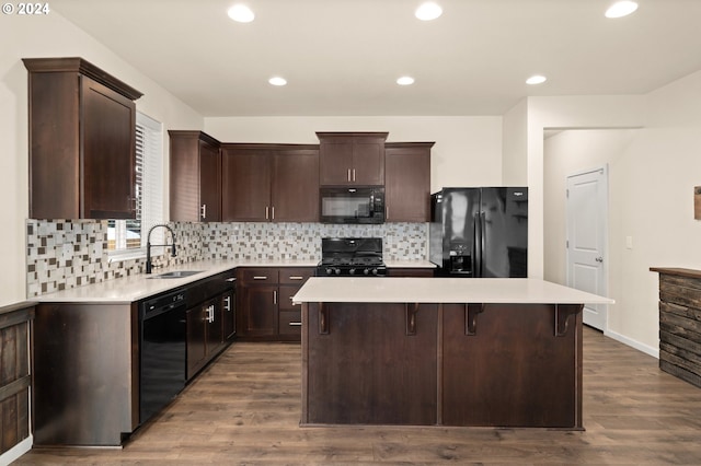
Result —
<path fill-rule="evenodd" d="M 314 275 L 312 267 L 240 267 L 238 269 L 238 338 L 299 341 L 300 306 L 291 296 Z"/>

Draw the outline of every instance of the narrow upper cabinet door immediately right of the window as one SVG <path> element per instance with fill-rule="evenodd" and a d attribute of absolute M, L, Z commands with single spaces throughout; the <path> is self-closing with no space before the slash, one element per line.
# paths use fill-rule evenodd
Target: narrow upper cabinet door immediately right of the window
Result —
<path fill-rule="evenodd" d="M 199 217 L 203 222 L 221 221 L 221 155 L 219 148 L 199 141 Z"/>

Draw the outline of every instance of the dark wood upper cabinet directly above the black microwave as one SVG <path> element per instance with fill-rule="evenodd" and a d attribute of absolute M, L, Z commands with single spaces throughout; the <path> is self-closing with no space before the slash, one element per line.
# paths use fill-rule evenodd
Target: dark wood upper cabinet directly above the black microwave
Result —
<path fill-rule="evenodd" d="M 383 185 L 387 132 L 317 132 L 320 184 Z"/>

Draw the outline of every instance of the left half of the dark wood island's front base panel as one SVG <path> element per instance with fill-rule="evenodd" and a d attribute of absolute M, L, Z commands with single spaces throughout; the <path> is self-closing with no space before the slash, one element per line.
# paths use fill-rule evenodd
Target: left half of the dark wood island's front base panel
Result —
<path fill-rule="evenodd" d="M 436 423 L 436 304 L 304 307 L 302 423 Z"/>

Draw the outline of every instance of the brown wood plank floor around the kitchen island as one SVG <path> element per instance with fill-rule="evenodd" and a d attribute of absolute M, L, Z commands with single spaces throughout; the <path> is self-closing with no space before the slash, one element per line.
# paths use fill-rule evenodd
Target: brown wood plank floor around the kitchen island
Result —
<path fill-rule="evenodd" d="M 584 331 L 585 432 L 300 428 L 300 349 L 234 343 L 123 450 L 34 450 L 16 464 L 701 464 L 701 389 Z"/>

